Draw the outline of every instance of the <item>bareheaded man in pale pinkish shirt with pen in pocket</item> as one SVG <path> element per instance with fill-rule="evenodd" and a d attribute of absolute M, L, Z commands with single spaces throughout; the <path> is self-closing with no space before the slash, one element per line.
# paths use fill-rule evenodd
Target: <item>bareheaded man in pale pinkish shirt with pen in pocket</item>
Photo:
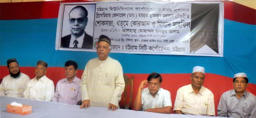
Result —
<path fill-rule="evenodd" d="M 76 105 L 81 100 L 80 82 L 81 79 L 77 78 L 77 63 L 75 61 L 67 61 L 65 63 L 66 77 L 58 81 L 53 102 L 63 102 L 67 104 Z"/>

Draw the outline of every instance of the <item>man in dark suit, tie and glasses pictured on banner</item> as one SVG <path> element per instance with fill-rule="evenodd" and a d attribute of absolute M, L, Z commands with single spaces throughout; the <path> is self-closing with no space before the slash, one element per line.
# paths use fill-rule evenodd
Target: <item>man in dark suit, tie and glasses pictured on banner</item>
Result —
<path fill-rule="evenodd" d="M 93 37 L 86 34 L 88 12 L 83 6 L 76 6 L 69 12 L 71 34 L 61 38 L 61 48 L 93 49 Z"/>

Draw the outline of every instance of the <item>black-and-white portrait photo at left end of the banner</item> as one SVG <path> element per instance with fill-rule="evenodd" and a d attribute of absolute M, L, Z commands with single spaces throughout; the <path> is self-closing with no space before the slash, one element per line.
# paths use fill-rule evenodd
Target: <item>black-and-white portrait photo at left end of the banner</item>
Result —
<path fill-rule="evenodd" d="M 96 4 L 63 5 L 58 48 L 93 49 L 95 7 Z"/>

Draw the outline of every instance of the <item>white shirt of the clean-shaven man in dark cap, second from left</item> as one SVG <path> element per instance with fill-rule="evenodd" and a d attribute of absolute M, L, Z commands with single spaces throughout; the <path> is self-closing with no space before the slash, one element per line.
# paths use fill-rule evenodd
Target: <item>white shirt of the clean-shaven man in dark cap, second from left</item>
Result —
<path fill-rule="evenodd" d="M 24 98 L 34 99 L 38 101 L 52 101 L 54 96 L 53 81 L 45 75 L 38 81 L 36 78 L 28 82 L 27 89 L 24 92 Z"/>

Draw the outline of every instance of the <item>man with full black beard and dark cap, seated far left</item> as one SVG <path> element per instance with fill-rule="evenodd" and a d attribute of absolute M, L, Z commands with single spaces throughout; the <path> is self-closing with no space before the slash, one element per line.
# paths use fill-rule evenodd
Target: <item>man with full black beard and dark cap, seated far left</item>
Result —
<path fill-rule="evenodd" d="M 30 78 L 20 73 L 19 63 L 15 58 L 7 60 L 7 68 L 10 75 L 5 76 L 0 84 L 0 96 L 23 98 Z"/>

